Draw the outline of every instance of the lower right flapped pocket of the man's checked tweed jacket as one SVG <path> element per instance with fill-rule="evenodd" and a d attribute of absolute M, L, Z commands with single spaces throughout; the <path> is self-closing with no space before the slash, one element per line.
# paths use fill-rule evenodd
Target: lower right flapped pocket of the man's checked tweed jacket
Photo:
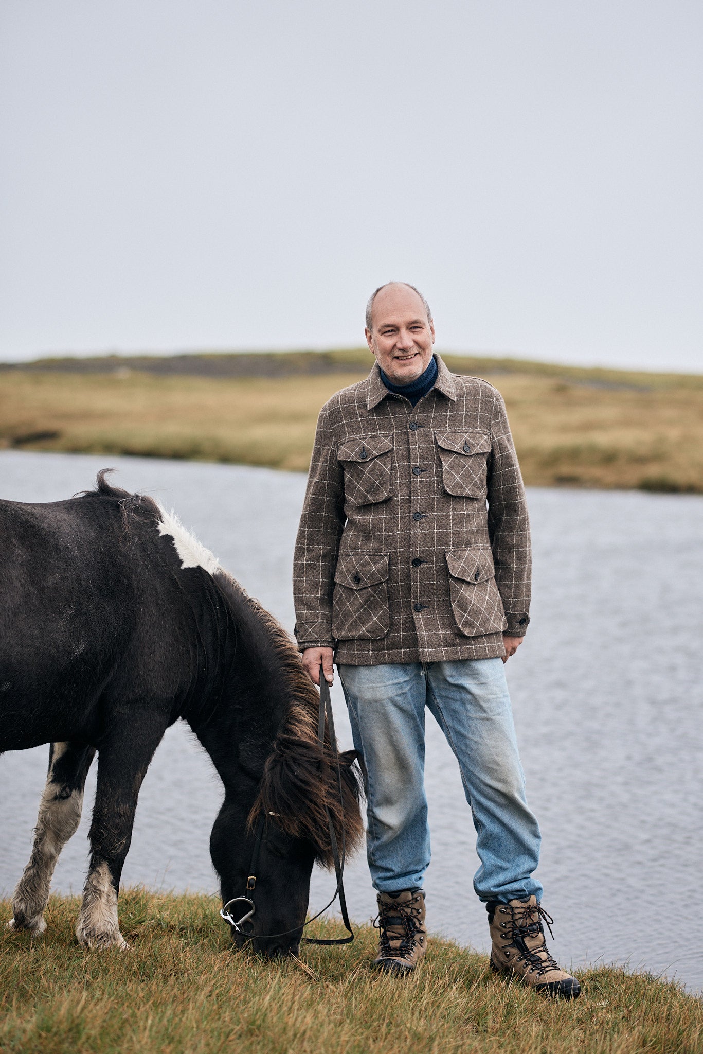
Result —
<path fill-rule="evenodd" d="M 482 637 L 507 629 L 491 550 L 479 545 L 451 549 L 446 560 L 451 608 L 458 631 L 466 637 Z"/>

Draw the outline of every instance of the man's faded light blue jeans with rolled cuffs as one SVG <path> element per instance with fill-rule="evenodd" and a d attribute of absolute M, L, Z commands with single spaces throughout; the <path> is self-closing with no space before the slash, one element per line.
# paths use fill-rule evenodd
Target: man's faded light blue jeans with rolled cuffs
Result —
<path fill-rule="evenodd" d="M 425 707 L 458 761 L 476 829 L 481 900 L 535 895 L 540 827 L 525 798 L 501 659 L 339 666 L 354 746 L 366 763 L 367 852 L 382 893 L 419 889 L 430 862 Z"/>

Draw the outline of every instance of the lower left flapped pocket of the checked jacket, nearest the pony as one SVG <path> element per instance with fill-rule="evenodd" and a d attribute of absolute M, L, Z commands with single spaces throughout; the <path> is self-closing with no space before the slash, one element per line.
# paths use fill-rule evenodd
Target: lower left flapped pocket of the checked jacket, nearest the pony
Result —
<path fill-rule="evenodd" d="M 340 552 L 334 572 L 332 636 L 338 641 L 376 641 L 390 624 L 388 554 Z"/>

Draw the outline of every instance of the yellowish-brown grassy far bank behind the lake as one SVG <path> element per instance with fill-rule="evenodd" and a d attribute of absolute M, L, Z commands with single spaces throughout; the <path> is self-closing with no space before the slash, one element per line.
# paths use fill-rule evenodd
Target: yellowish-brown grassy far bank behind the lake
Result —
<path fill-rule="evenodd" d="M 112 358 L 85 372 L 75 360 L 2 371 L 0 445 L 305 471 L 320 406 L 360 379 L 370 356 L 249 355 L 243 365 L 256 373 L 263 358 L 268 376 L 224 375 L 243 368 L 236 355 L 190 356 L 187 367 L 143 358 L 134 370 Z M 703 376 L 446 359 L 504 395 L 528 484 L 703 493 Z M 167 372 L 164 363 L 196 372 Z M 328 372 L 310 372 L 320 364 Z"/>

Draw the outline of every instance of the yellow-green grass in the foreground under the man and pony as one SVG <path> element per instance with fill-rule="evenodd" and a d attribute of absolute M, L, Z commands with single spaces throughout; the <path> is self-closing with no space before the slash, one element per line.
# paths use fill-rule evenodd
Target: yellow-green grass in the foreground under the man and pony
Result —
<path fill-rule="evenodd" d="M 583 995 L 550 1002 L 489 972 L 485 956 L 432 939 L 407 980 L 369 967 L 375 931 L 292 960 L 233 952 L 208 896 L 120 896 L 130 952 L 83 951 L 76 898 L 52 897 L 37 938 L 0 934 L 0 1051 L 22 1054 L 692 1054 L 703 1006 L 678 985 L 601 968 Z M 9 916 L 9 904 L 1 904 Z M 340 924 L 315 924 L 337 935 Z"/>

